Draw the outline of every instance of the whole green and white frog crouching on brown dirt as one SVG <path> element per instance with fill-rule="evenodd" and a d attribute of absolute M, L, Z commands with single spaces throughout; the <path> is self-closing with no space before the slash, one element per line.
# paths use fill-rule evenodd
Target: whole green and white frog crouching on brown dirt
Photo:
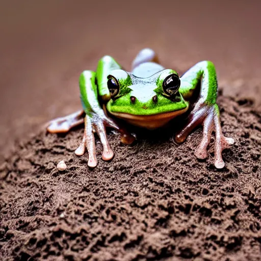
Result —
<path fill-rule="evenodd" d="M 232 145 L 234 139 L 222 133 L 217 105 L 217 73 L 213 62 L 198 62 L 179 76 L 175 70 L 160 64 L 154 50 L 144 48 L 133 60 L 130 71 L 113 57 L 103 56 L 96 71 L 84 70 L 81 73 L 79 86 L 82 109 L 51 120 L 47 131 L 66 133 L 84 123 L 83 139 L 75 154 L 81 156 L 87 149 L 90 168 L 98 163 L 95 133 L 103 147 L 102 160 L 110 161 L 114 152 L 108 141 L 107 127 L 120 133 L 123 144 L 132 144 L 136 135 L 128 132 L 127 125 L 150 131 L 166 126 L 177 116 L 186 118 L 186 124 L 173 136 L 175 142 L 185 142 L 191 132 L 202 125 L 196 158 L 207 158 L 207 146 L 215 132 L 214 166 L 217 169 L 225 166 L 222 151 Z"/>

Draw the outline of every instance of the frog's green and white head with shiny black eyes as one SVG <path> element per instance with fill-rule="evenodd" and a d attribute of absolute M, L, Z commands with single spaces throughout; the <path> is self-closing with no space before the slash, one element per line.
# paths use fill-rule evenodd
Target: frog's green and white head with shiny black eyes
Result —
<path fill-rule="evenodd" d="M 107 109 L 132 124 L 156 128 L 187 111 L 189 105 L 179 93 L 179 86 L 177 72 L 170 69 L 147 78 L 113 70 L 108 76 L 111 99 Z"/>

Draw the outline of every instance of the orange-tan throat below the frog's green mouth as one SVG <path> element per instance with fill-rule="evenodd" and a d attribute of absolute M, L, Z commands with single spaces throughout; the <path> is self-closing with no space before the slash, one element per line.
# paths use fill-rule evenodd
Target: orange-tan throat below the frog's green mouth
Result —
<path fill-rule="evenodd" d="M 185 113 L 189 107 L 175 112 L 166 112 L 153 115 L 133 115 L 128 113 L 110 112 L 113 116 L 124 119 L 132 125 L 143 128 L 155 129 L 166 125 L 170 120 Z"/>

